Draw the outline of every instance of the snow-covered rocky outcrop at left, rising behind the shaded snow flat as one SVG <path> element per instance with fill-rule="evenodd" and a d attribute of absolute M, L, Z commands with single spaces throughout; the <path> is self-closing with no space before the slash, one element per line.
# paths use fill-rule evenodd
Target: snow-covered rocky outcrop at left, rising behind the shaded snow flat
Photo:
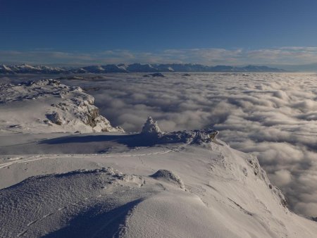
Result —
<path fill-rule="evenodd" d="M 94 98 L 57 80 L 0 84 L 0 132 L 116 132 Z"/>

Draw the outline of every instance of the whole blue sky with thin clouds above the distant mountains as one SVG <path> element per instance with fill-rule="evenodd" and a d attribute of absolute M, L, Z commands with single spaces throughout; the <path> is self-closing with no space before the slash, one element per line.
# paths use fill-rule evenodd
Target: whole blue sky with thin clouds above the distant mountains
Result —
<path fill-rule="evenodd" d="M 1 63 L 317 63 L 317 1 L 0 0 Z"/>

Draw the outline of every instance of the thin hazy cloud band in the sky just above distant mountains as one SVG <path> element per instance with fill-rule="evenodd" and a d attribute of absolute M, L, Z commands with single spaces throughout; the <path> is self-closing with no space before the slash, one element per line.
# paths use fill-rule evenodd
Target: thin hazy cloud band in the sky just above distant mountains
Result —
<path fill-rule="evenodd" d="M 52 49 L 0 51 L 1 63 L 93 65 L 107 63 L 201 63 L 204 65 L 304 65 L 317 63 L 317 47 L 272 49 L 166 49 L 64 52 Z M 4 61 L 5 59 L 5 61 Z"/>

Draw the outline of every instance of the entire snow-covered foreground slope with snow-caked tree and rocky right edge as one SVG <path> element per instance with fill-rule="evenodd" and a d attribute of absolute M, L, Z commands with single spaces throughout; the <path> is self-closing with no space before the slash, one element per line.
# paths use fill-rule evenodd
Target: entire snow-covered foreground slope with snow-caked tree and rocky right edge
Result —
<path fill-rule="evenodd" d="M 256 157 L 215 130 L 164 133 L 148 118 L 140 134 L 8 133 L 0 134 L 0 237 L 317 234 L 315 222 L 287 209 Z"/>

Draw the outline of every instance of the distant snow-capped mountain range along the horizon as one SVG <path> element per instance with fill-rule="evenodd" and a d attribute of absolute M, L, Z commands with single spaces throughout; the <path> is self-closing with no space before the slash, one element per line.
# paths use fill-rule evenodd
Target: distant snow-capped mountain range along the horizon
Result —
<path fill-rule="evenodd" d="M 49 67 L 44 65 L 0 65 L 1 74 L 16 73 L 150 73 L 150 72 L 285 72 L 279 68 L 268 66 L 247 65 L 244 67 L 217 65 L 207 66 L 192 63 L 163 63 L 163 64 L 108 64 L 90 65 L 82 68 Z"/>

